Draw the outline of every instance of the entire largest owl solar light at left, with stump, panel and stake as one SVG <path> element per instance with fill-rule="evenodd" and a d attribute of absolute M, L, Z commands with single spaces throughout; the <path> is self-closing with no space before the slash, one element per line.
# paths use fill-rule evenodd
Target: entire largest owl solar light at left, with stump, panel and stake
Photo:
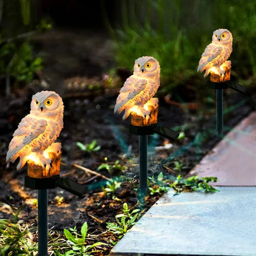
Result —
<path fill-rule="evenodd" d="M 87 187 L 60 177 L 61 143 L 54 143 L 63 128 L 63 102 L 54 91 L 32 96 L 31 110 L 13 133 L 6 162 L 19 157 L 17 170 L 28 163 L 25 187 L 38 190 L 38 256 L 47 256 L 47 189 L 60 187 L 82 196 Z"/>

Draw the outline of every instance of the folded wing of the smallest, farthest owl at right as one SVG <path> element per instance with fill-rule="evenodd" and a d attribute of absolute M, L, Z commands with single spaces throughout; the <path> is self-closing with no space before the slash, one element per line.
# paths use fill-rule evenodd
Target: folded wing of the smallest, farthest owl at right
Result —
<path fill-rule="evenodd" d="M 223 47 L 222 46 L 216 46 L 214 44 L 209 44 L 203 54 L 202 54 L 202 58 L 199 61 L 199 65 L 197 68 L 197 72 L 203 72 L 204 67 L 212 62 L 215 58 L 217 58 L 218 56 L 221 55 L 223 51 Z"/>

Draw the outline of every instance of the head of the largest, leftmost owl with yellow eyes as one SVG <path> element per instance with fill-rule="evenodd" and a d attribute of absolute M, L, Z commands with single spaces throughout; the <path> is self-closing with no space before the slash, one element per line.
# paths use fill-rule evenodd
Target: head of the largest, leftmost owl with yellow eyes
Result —
<path fill-rule="evenodd" d="M 62 113 L 64 110 L 61 97 L 55 91 L 40 91 L 32 96 L 30 104 L 31 114 L 37 116 L 53 115 L 53 113 Z"/>

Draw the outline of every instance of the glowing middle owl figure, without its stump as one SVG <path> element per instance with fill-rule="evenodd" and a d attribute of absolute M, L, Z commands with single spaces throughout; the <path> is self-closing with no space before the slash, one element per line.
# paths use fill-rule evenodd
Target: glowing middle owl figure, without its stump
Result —
<path fill-rule="evenodd" d="M 125 81 L 116 99 L 114 113 L 125 110 L 123 120 L 132 111 L 149 118 L 148 105 L 155 106 L 158 99 L 153 98 L 160 85 L 160 66 L 153 57 L 143 56 L 135 60 L 133 74 Z"/>

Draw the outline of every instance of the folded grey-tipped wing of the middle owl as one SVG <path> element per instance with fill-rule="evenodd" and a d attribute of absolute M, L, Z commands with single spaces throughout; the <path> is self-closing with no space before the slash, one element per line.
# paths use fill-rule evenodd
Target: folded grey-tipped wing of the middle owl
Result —
<path fill-rule="evenodd" d="M 116 99 L 116 105 L 114 109 L 114 113 L 117 111 L 120 113 L 123 111 L 124 105 L 132 100 L 136 95 L 140 94 L 147 85 L 146 79 L 134 79 L 134 77 L 130 76 L 125 81 L 124 86 L 120 90 L 120 94 Z"/>

